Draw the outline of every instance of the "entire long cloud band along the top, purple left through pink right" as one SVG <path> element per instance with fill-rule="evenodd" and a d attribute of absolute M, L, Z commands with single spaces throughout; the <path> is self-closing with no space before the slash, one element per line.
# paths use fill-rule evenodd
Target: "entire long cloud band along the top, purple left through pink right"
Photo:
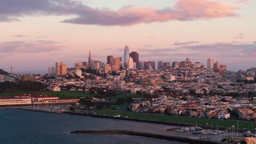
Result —
<path fill-rule="evenodd" d="M 226 2 L 213 0 L 177 0 L 173 7 L 154 9 L 128 5 L 116 11 L 91 8 L 72 0 L 8 0 L 0 1 L 0 21 L 17 21 L 23 16 L 62 15 L 73 16 L 66 23 L 102 26 L 131 26 L 140 23 L 191 21 L 237 17 L 240 9 Z"/>

